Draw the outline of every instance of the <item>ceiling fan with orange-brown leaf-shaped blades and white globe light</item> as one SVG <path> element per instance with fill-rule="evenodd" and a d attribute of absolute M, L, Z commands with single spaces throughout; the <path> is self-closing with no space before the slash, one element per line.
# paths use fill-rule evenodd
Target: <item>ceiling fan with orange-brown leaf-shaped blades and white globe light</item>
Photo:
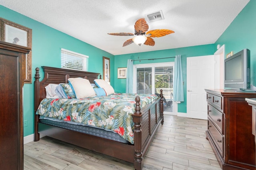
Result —
<path fill-rule="evenodd" d="M 174 31 L 170 29 L 153 29 L 148 31 L 148 23 L 144 18 L 140 18 L 135 22 L 134 25 L 135 35 L 133 38 L 128 39 L 124 42 L 123 47 L 130 45 L 131 43 L 136 43 L 137 45 L 150 45 L 154 46 L 155 41 L 151 37 L 163 37 L 170 33 L 174 33 Z M 148 32 L 146 32 L 148 31 Z M 119 36 L 133 36 L 133 33 L 108 33 L 109 35 L 119 35 Z"/>

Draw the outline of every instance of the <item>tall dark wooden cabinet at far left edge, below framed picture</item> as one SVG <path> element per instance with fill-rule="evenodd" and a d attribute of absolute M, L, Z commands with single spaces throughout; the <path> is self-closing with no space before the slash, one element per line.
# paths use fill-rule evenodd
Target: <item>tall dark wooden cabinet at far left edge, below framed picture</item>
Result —
<path fill-rule="evenodd" d="M 23 169 L 22 89 L 29 51 L 0 41 L 0 170 Z"/>

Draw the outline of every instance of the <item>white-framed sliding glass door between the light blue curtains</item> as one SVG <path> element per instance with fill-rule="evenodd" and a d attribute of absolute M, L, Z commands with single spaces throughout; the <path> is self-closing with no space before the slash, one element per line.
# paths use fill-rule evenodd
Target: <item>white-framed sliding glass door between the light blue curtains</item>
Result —
<path fill-rule="evenodd" d="M 134 65 L 134 93 L 160 95 L 163 90 L 164 111 L 173 112 L 174 63 Z"/>

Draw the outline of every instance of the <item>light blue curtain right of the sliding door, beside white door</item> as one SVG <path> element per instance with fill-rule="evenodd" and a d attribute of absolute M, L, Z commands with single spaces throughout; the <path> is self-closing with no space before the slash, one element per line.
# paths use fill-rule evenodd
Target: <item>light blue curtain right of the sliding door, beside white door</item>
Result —
<path fill-rule="evenodd" d="M 183 79 L 181 56 L 176 55 L 174 60 L 174 83 L 173 83 L 173 101 L 180 103 L 184 102 Z"/>

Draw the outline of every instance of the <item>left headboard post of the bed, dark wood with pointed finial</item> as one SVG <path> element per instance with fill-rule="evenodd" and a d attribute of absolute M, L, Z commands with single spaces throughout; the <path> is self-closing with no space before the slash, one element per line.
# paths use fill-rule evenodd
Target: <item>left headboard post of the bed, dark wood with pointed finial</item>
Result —
<path fill-rule="evenodd" d="M 39 82 L 39 78 L 40 78 L 40 75 L 39 75 L 39 68 L 36 67 L 36 74 L 35 74 L 35 82 L 34 82 L 34 85 L 35 85 L 35 96 L 34 96 L 34 113 L 35 113 L 35 131 L 34 131 L 34 141 L 39 141 L 40 139 L 40 134 L 38 133 L 38 122 L 39 122 L 39 115 L 36 115 L 36 110 L 40 104 L 40 101 L 39 100 L 39 94 L 40 94 L 40 91 L 39 91 L 39 88 L 40 88 L 40 82 Z"/>

